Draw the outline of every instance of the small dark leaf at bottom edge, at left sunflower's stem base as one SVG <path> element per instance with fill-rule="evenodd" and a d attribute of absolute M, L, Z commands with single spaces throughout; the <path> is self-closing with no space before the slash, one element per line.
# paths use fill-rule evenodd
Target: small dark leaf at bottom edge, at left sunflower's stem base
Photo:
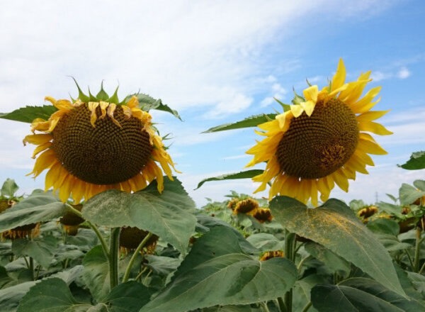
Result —
<path fill-rule="evenodd" d="M 106 302 L 111 303 L 111 312 L 139 311 L 150 299 L 150 292 L 146 286 L 130 281 L 115 286 L 108 294 Z"/>

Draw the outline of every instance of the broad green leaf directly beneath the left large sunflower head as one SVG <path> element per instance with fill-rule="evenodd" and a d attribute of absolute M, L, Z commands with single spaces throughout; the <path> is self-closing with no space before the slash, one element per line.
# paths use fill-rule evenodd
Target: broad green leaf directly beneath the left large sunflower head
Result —
<path fill-rule="evenodd" d="M 195 203 L 177 179 L 164 179 L 159 194 L 157 183 L 134 194 L 110 190 L 86 202 L 83 217 L 98 225 L 135 226 L 148 230 L 186 255 L 189 239 L 195 230 Z"/>

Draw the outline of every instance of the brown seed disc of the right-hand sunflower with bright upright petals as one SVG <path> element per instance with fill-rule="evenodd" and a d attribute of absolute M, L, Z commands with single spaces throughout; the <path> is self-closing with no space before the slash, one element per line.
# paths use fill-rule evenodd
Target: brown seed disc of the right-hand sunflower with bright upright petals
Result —
<path fill-rule="evenodd" d="M 280 170 L 292 177 L 319 179 L 350 159 L 358 143 L 356 115 L 339 99 L 318 101 L 312 116 L 290 121 L 276 156 Z"/>

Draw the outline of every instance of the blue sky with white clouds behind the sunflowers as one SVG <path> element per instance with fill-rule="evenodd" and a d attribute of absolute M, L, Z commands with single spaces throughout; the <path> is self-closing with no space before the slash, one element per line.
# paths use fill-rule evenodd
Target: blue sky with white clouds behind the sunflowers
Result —
<path fill-rule="evenodd" d="M 347 79 L 373 71 L 382 86 L 379 122 L 395 134 L 375 138 L 389 154 L 373 156 L 370 174 L 331 197 L 387 201 L 424 170 L 397 167 L 424 150 L 425 2 L 421 0 L 319 1 L 8 1 L 0 11 L 0 111 L 76 96 L 81 87 L 119 96 L 141 91 L 179 111 L 183 122 L 153 111 L 177 176 L 198 206 L 225 199 L 230 190 L 251 194 L 250 180 L 200 180 L 239 172 L 244 152 L 259 139 L 252 128 L 201 133 L 290 102 L 305 79 L 327 84 L 340 57 Z M 16 180 L 21 193 L 43 188 L 26 177 L 33 146 L 23 147 L 29 125 L 0 120 L 0 180 Z M 258 167 L 259 169 L 261 166 Z M 265 193 L 258 196 L 265 196 Z M 388 199 L 389 201 L 389 199 Z"/>

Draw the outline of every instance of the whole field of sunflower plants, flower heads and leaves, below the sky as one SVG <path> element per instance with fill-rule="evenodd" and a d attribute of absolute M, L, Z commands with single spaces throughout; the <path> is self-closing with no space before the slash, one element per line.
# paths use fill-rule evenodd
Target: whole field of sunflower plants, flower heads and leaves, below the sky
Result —
<path fill-rule="evenodd" d="M 0 311 L 425 311 L 425 181 L 373 204 L 331 198 L 386 151 L 370 72 L 346 82 L 339 61 L 282 112 L 208 133 L 256 128 L 246 167 L 199 182 L 251 179 L 267 198 L 229 191 L 197 207 L 145 94 L 103 90 L 45 99 L 0 118 L 28 123 L 45 189 L 0 192 Z M 30 155 L 30 152 L 28 152 Z M 402 167 L 425 168 L 425 152 Z"/>

